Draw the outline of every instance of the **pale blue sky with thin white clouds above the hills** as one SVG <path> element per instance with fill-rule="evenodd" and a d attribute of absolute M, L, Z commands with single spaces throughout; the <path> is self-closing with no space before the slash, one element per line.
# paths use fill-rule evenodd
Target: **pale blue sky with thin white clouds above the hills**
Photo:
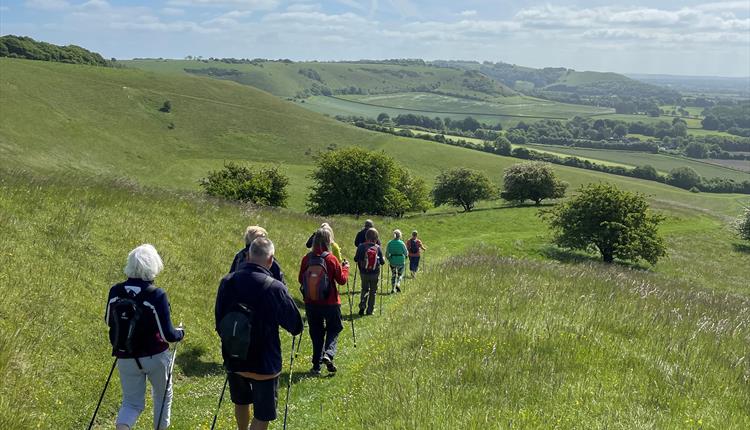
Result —
<path fill-rule="evenodd" d="M 107 58 L 423 58 L 750 76 L 750 0 L 0 0 L 0 34 Z"/>

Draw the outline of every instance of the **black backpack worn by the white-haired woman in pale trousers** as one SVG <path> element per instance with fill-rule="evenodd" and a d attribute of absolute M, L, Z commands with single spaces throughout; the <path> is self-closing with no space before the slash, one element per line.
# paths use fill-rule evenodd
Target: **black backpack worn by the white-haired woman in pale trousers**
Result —
<path fill-rule="evenodd" d="M 137 294 L 124 286 L 122 288 L 124 291 L 109 305 L 107 324 L 112 355 L 138 357 L 144 351 L 154 328 L 152 318 L 147 313 L 149 310 L 143 304 L 143 296 L 156 290 L 156 287 L 151 284 Z"/>

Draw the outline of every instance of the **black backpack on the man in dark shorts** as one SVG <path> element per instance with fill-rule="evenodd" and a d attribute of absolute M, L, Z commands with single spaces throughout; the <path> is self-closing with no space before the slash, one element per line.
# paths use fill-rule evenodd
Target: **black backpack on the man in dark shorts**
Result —
<path fill-rule="evenodd" d="M 263 288 L 267 288 L 274 279 L 267 277 Z M 253 324 L 255 310 L 245 304 L 236 303 L 219 322 L 219 337 L 221 337 L 221 356 L 224 364 L 245 361 L 250 351 L 253 338 Z"/>

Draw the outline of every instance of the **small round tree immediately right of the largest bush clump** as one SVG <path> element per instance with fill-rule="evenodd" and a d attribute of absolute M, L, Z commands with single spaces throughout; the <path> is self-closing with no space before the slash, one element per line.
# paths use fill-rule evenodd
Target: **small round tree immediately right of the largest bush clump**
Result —
<path fill-rule="evenodd" d="M 435 206 L 449 204 L 469 212 L 480 200 L 489 200 L 495 186 L 484 173 L 466 168 L 455 168 L 440 173 L 435 178 L 432 201 Z"/>

